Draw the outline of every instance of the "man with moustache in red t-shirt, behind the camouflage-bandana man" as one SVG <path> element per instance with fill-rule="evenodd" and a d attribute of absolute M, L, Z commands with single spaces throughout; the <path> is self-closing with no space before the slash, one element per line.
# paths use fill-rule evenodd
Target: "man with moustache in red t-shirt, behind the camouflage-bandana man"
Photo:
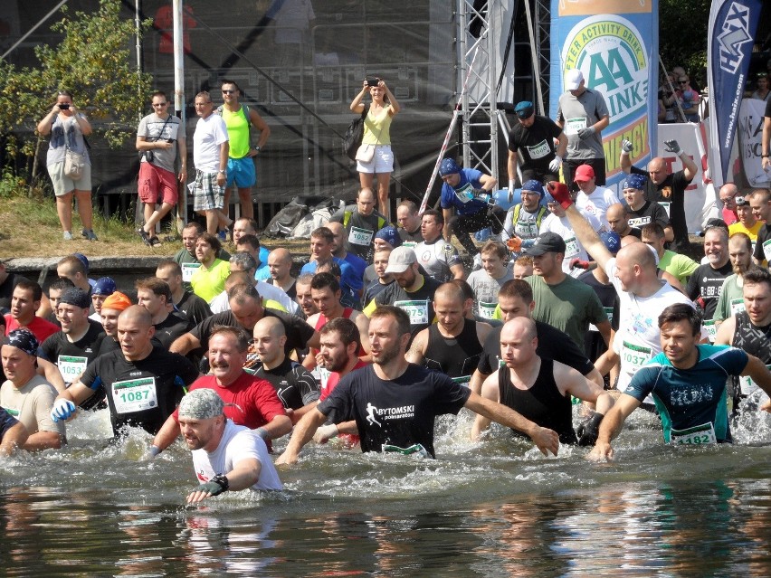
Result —
<path fill-rule="evenodd" d="M 212 373 L 196 379 L 190 391 L 214 390 L 228 404 L 225 415 L 233 423 L 254 430 L 270 451 L 271 440 L 291 431 L 291 421 L 272 385 L 243 370 L 248 346 L 249 336 L 243 330 L 235 327 L 215 329 L 209 338 Z M 149 450 L 150 456 L 157 456 L 176 440 L 178 422 L 178 411 L 173 412 L 157 432 Z"/>

